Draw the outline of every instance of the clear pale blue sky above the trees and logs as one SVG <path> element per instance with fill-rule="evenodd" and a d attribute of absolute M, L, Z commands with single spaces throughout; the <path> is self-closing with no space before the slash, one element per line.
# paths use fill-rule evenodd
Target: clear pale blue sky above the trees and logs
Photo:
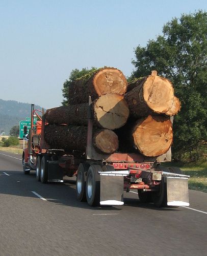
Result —
<path fill-rule="evenodd" d="M 110 66 L 130 76 L 134 48 L 199 9 L 207 1 L 0 0 L 0 98 L 53 108 L 75 68 Z"/>

